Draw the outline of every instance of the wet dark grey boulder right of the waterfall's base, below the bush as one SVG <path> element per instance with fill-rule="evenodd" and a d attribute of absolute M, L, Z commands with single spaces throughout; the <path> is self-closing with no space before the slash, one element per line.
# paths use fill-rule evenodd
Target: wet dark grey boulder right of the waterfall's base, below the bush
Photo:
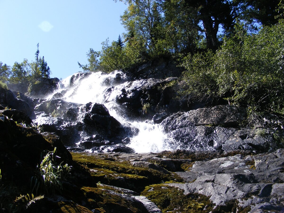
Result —
<path fill-rule="evenodd" d="M 161 125 L 175 149 L 267 152 L 282 147 L 272 129 L 241 128 L 245 116 L 244 108 L 219 105 L 172 114 Z"/>

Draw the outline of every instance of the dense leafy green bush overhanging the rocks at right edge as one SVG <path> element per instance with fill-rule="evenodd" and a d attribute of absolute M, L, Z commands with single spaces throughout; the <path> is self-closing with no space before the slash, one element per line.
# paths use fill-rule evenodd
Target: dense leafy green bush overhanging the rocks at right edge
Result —
<path fill-rule="evenodd" d="M 214 55 L 211 51 L 183 58 L 187 93 L 195 99 L 223 98 L 229 104 L 284 112 L 284 23 L 249 34 L 237 23 Z M 255 115 L 252 115 L 255 117 Z"/>

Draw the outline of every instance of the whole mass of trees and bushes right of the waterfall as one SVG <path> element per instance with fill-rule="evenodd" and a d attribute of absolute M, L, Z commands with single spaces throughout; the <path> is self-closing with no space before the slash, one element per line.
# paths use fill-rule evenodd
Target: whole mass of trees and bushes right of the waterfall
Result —
<path fill-rule="evenodd" d="M 166 55 L 185 70 L 193 99 L 283 112 L 281 0 L 120 1 L 126 32 L 91 49 L 83 69 L 111 72 Z"/>

